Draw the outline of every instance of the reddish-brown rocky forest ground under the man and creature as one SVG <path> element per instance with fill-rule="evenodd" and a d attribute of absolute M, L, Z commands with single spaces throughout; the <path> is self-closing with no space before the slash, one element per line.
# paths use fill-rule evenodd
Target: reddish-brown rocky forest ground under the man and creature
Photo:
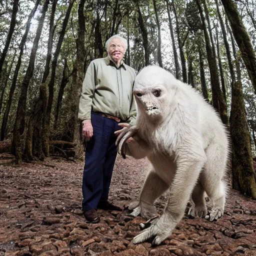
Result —
<path fill-rule="evenodd" d="M 228 191 L 225 213 L 215 222 L 183 217 L 159 246 L 134 245 L 144 222 L 127 210 L 98 210 L 100 222 L 86 223 L 80 208 L 83 162 L 47 158 L 14 165 L 0 155 L 0 256 L 55 255 L 256 255 L 256 202 Z M 137 199 L 145 159 L 117 158 L 110 201 L 124 207 Z M 166 195 L 156 202 L 162 212 Z"/>

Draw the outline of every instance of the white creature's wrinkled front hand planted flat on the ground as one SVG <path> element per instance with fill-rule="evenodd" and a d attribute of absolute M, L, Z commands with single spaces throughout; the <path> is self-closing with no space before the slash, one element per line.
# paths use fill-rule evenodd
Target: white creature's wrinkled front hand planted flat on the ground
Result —
<path fill-rule="evenodd" d="M 155 238 L 152 244 L 160 244 L 165 240 L 175 228 L 177 222 L 169 216 L 169 214 L 163 213 L 159 218 L 150 220 L 151 225 L 140 232 L 133 238 L 133 243 L 143 242 L 153 236 Z"/>

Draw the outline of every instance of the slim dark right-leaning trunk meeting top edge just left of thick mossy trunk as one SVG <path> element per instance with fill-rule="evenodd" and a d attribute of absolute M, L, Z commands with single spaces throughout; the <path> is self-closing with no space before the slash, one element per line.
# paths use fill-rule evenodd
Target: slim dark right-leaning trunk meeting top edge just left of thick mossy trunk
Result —
<path fill-rule="evenodd" d="M 54 52 L 54 56 L 51 63 L 51 75 L 48 83 L 48 89 L 49 89 L 48 102 L 46 107 L 46 113 L 45 113 L 45 116 L 43 117 L 43 134 L 44 134 L 43 152 L 45 155 L 49 154 L 50 113 L 51 113 L 52 102 L 53 102 L 53 90 L 54 90 L 55 73 L 56 73 L 56 67 L 57 67 L 57 59 L 58 59 L 60 48 L 64 39 L 64 34 L 65 34 L 68 18 L 69 18 L 73 3 L 74 3 L 74 0 L 69 1 L 66 14 L 63 20 L 62 28 L 59 33 L 56 50 Z"/>

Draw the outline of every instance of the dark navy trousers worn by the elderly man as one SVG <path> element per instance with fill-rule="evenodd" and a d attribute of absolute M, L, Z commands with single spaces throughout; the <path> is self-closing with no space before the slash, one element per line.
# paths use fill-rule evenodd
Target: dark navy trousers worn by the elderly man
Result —
<path fill-rule="evenodd" d="M 117 148 L 114 131 L 118 123 L 97 113 L 91 113 L 93 136 L 85 143 L 85 164 L 82 177 L 82 210 L 96 209 L 99 200 L 108 198 Z"/>

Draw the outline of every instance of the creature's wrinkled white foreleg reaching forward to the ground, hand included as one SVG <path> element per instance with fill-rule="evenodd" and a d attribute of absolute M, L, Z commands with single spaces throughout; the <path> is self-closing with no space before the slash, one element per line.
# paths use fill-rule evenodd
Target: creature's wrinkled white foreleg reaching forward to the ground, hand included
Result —
<path fill-rule="evenodd" d="M 187 149 L 187 146 L 185 147 Z M 133 239 L 134 243 L 139 243 L 155 236 L 153 244 L 159 244 L 166 239 L 175 228 L 176 224 L 183 217 L 186 203 L 192 193 L 194 184 L 198 180 L 200 170 L 206 160 L 203 150 L 191 153 L 186 149 L 177 155 L 177 170 L 174 175 L 173 182 L 170 187 L 170 196 L 163 214 L 150 227 L 136 235 Z M 168 169 L 166 169 L 168 171 Z"/>

